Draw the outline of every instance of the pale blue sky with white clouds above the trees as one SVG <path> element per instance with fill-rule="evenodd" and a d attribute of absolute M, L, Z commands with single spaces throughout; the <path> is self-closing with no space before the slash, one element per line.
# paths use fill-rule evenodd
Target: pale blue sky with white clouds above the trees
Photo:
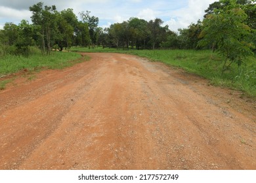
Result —
<path fill-rule="evenodd" d="M 30 20 L 30 6 L 40 0 L 0 0 L 0 29 L 6 22 L 18 24 Z M 75 14 L 89 10 L 100 19 L 99 25 L 107 27 L 131 17 L 144 20 L 161 18 L 169 29 L 177 31 L 203 18 L 204 10 L 217 0 L 41 0 L 44 5 L 56 5 L 57 10 L 73 8 Z"/>

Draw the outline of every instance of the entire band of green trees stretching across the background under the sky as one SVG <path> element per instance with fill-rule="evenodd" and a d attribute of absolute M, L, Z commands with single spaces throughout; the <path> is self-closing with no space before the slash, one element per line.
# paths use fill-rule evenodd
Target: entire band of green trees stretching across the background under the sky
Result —
<path fill-rule="evenodd" d="M 89 11 L 80 12 L 79 19 L 71 8 L 58 11 L 42 2 L 30 7 L 32 24 L 22 20 L 6 23 L 0 31 L 0 55 L 29 55 L 32 46 L 42 54 L 53 49 L 62 51 L 71 46 L 103 46 L 117 49 L 202 49 L 249 53 L 255 51 L 255 0 L 221 0 L 205 10 L 202 21 L 174 32 L 163 26 L 160 18 L 142 20 L 130 18 L 106 29 L 98 27 L 98 18 Z M 236 46 L 238 44 L 238 46 Z M 236 48 L 236 49 L 235 49 Z M 244 54 L 246 55 L 246 54 Z M 234 53 L 228 58 L 237 57 Z"/>

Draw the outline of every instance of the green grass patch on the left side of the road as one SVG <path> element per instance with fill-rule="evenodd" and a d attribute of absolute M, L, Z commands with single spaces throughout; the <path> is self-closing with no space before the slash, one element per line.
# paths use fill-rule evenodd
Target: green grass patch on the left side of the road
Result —
<path fill-rule="evenodd" d="M 29 57 L 7 55 L 0 58 L 0 76 L 17 73 L 23 69 L 28 71 L 63 69 L 85 59 L 89 58 L 82 58 L 74 52 L 52 52 L 49 56 L 37 53 Z"/>

